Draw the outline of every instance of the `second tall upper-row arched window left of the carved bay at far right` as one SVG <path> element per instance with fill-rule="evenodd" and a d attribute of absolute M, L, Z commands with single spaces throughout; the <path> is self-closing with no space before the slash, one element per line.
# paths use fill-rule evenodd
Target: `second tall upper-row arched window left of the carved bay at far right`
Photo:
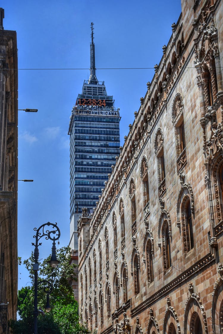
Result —
<path fill-rule="evenodd" d="M 160 198 L 166 191 L 163 135 L 161 128 L 159 128 L 156 132 L 155 154 L 156 154 L 157 172 L 158 172 L 158 191 Z"/>

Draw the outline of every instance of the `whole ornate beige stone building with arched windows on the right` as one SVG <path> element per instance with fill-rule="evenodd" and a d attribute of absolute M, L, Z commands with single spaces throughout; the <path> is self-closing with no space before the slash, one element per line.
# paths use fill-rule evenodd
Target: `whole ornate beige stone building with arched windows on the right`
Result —
<path fill-rule="evenodd" d="M 79 233 L 79 311 L 98 333 L 223 332 L 223 2 L 182 1 Z"/>

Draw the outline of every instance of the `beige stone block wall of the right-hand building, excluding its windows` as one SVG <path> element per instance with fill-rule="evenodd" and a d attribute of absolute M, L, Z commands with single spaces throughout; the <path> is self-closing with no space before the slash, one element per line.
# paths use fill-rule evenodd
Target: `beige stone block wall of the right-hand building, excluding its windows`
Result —
<path fill-rule="evenodd" d="M 155 76 L 151 84 L 147 85 L 148 91 L 144 99 L 141 100 L 138 113 L 135 113 L 135 121 L 130 126 L 130 132 L 125 139 L 114 170 L 99 198 L 93 216 L 89 217 L 90 236 L 84 240 L 88 246 L 79 259 L 80 292 L 81 285 L 83 287 L 83 303 L 79 304 L 79 311 L 83 321 L 88 321 L 89 327 L 91 327 L 92 319 L 92 328 L 97 327 L 98 333 L 112 333 L 113 327 L 118 332 L 123 321 L 127 322 L 131 333 L 135 333 L 136 330 L 138 333 L 148 334 L 152 333 L 153 330 L 155 333 L 175 333 L 173 329 L 171 330 L 171 326 L 175 328 L 176 333 L 197 333 L 199 330 L 202 330 L 202 333 L 212 333 L 212 326 L 216 329 L 216 333 L 220 333 L 219 314 L 223 311 L 221 306 L 223 300 L 223 270 L 221 267 L 221 262 L 223 262 L 221 233 L 223 211 L 221 207 L 217 208 L 214 166 L 217 166 L 217 162 L 218 166 L 221 166 L 223 160 L 221 144 L 223 101 L 221 98 L 222 81 L 219 79 L 222 78 L 222 70 L 218 70 L 219 76 L 217 76 L 218 98 L 212 107 L 207 106 L 204 88 L 205 76 L 202 72 L 202 66 L 206 66 L 204 63 L 206 60 L 205 58 L 201 59 L 200 56 L 200 64 L 197 64 L 194 50 L 203 45 L 203 33 L 206 34 L 212 22 L 216 25 L 218 38 L 211 33 L 214 36 L 214 41 L 210 45 L 211 47 L 219 45 L 219 51 L 221 50 L 223 5 L 222 1 L 217 1 L 215 5 L 205 1 L 199 2 L 193 14 L 193 18 L 196 18 L 197 21 L 192 26 L 193 6 L 194 1 L 187 1 L 183 4 L 182 17 L 179 18 L 176 27 L 173 27 L 173 36 L 164 50 L 159 66 L 155 69 Z M 207 13 L 205 17 L 200 15 L 201 10 L 205 10 Z M 207 27 L 203 32 L 198 29 L 200 23 L 205 29 Z M 210 30 L 208 31 L 210 32 Z M 181 54 L 178 54 L 177 45 L 179 40 L 182 41 L 182 34 L 184 34 L 184 46 Z M 173 65 L 170 76 L 163 80 L 164 72 L 167 71 L 169 62 L 174 58 L 174 52 L 177 56 L 176 63 Z M 208 56 L 209 51 L 206 49 L 205 52 Z M 222 52 L 220 53 L 219 62 L 222 64 Z M 198 76 L 200 76 L 201 81 L 199 78 L 197 79 Z M 163 85 L 163 91 L 158 101 L 153 105 L 153 99 L 156 99 L 156 90 L 162 81 L 166 81 Z M 179 167 L 180 170 L 177 168 L 178 140 L 173 124 L 176 101 L 180 101 L 181 112 L 183 107 L 186 144 L 186 160 L 184 160 L 183 167 Z M 181 115 L 180 112 L 178 115 Z M 215 123 L 219 124 L 218 132 L 216 132 Z M 179 124 L 177 123 L 177 125 Z M 159 196 L 158 191 L 159 173 L 155 153 L 155 142 L 159 129 L 162 131 L 166 187 L 161 196 Z M 133 146 L 134 149 L 131 151 Z M 132 152 L 132 155 L 129 155 L 129 152 Z M 140 175 L 144 156 L 147 158 L 150 209 L 146 217 L 143 213 L 143 184 Z M 219 171 L 220 167 L 216 168 Z M 132 238 L 131 200 L 129 197 L 132 178 L 135 185 L 137 225 L 134 238 Z M 182 209 L 183 198 L 187 196 L 179 197 L 183 193 L 190 198 L 192 208 L 194 247 L 188 252 L 185 251 L 184 247 L 184 214 Z M 123 249 L 119 214 L 121 199 L 123 199 L 125 217 L 125 247 Z M 114 258 L 114 212 L 117 217 L 117 258 Z M 171 266 L 167 270 L 164 267 L 161 235 L 162 217 L 168 217 L 169 231 L 171 232 Z M 84 235 L 83 219 L 86 218 L 79 221 L 79 238 Z M 106 269 L 106 226 L 108 228 L 109 269 Z M 150 237 L 152 236 L 154 253 L 152 255 L 154 279 L 151 283 L 147 279 L 146 260 L 144 259 L 147 229 Z M 99 244 L 101 244 L 102 249 L 101 279 Z M 94 285 L 94 249 L 97 267 L 96 285 Z M 135 293 L 134 274 L 132 273 L 133 254 L 138 254 L 139 259 L 139 293 L 137 294 Z M 86 294 L 85 266 L 89 278 L 90 258 L 92 285 L 90 287 L 88 282 Z M 123 266 L 126 266 L 128 276 L 128 298 L 125 303 L 122 281 Z M 82 280 L 80 279 L 81 275 Z M 116 275 L 119 279 L 119 308 L 116 307 L 115 294 L 113 293 Z M 107 286 L 110 287 L 110 317 L 107 315 Z M 103 295 L 102 324 L 100 320 L 101 294 Z M 79 300 L 81 300 L 80 297 Z M 97 326 L 95 326 L 95 301 L 98 312 Z M 92 315 L 90 314 L 91 308 Z M 200 319 L 200 327 L 196 325 L 199 323 L 198 319 Z"/>

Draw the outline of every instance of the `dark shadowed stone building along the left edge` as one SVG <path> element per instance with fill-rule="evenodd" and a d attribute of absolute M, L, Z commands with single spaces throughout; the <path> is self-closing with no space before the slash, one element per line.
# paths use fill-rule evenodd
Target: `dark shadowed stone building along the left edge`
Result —
<path fill-rule="evenodd" d="M 16 319 L 18 65 L 16 32 L 4 30 L 0 8 L 0 333 Z"/>

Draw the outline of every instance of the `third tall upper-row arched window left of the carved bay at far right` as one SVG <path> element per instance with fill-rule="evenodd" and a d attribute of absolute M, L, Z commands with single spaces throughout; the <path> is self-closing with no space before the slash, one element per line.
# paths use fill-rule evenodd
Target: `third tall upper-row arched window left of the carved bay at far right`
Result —
<path fill-rule="evenodd" d="M 148 184 L 148 162 L 147 158 L 144 155 L 142 157 L 141 168 L 140 168 L 140 176 L 142 179 L 142 194 L 143 194 L 143 212 L 144 219 L 149 214 L 149 184 Z"/>

